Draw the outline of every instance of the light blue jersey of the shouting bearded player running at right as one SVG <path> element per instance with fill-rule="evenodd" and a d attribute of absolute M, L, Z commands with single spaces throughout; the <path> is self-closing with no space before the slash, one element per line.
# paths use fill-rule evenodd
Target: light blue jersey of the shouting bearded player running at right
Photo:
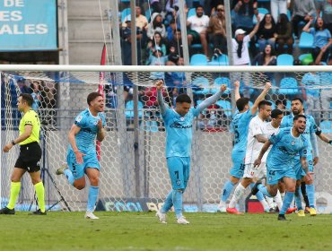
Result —
<path fill-rule="evenodd" d="M 293 162 L 298 153 L 300 157 L 307 157 L 308 141 L 303 134 L 294 137 L 292 127 L 272 134 L 269 141 L 273 144 L 266 159 L 270 169 L 293 169 Z"/>

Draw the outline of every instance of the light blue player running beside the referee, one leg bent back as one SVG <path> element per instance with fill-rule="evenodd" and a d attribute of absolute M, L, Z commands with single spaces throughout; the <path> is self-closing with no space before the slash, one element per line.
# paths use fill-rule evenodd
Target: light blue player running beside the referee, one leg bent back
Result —
<path fill-rule="evenodd" d="M 92 92 L 87 97 L 89 107 L 83 110 L 74 120 L 69 131 L 69 146 L 67 165 L 57 169 L 57 175 L 64 174 L 69 183 L 78 190 L 85 187 L 85 177 L 90 181 L 86 219 L 99 219 L 93 214 L 99 193 L 100 163 L 97 158 L 96 136 L 98 141 L 105 138 L 106 125 L 104 99 L 98 92 Z M 69 169 L 67 168 L 69 167 Z"/>

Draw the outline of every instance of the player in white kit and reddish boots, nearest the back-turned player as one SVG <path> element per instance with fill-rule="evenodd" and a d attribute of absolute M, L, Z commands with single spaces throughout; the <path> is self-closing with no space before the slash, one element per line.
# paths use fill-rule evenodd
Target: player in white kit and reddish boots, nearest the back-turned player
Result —
<path fill-rule="evenodd" d="M 234 194 L 232 196 L 231 203 L 229 204 L 226 212 L 239 214 L 238 210 L 236 209 L 236 204 L 242 199 L 243 195 L 246 192 L 248 186 L 253 186 L 253 178 L 262 179 L 266 176 L 266 166 L 265 160 L 262 160 L 261 165 L 259 165 L 256 169 L 253 168 L 254 160 L 258 158 L 259 151 L 261 150 L 263 144 L 266 142 L 266 134 L 270 133 L 269 135 L 278 131 L 281 118 L 278 120 L 274 120 L 274 126 L 272 128 L 268 127 L 270 130 L 266 132 L 267 125 L 271 125 L 267 123 L 267 119 L 271 116 L 271 102 L 262 100 L 258 104 L 258 115 L 253 117 L 249 123 L 249 132 L 247 137 L 247 150 L 246 150 L 246 157 L 245 157 L 245 169 L 243 178 L 236 187 Z M 283 112 L 280 110 L 279 116 L 283 117 Z M 274 112 L 274 117 L 277 117 L 277 111 Z M 266 158 L 265 158 L 266 159 Z M 269 212 L 270 208 L 266 203 L 266 199 L 262 193 L 258 192 L 256 195 L 258 201 L 262 204 L 264 211 Z M 281 203 L 281 198 L 277 200 Z"/>

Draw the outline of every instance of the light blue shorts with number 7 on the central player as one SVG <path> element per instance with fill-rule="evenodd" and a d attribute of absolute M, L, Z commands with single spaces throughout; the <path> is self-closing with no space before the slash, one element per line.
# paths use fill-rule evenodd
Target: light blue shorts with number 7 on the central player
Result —
<path fill-rule="evenodd" d="M 184 191 L 188 185 L 190 174 L 190 158 L 169 157 L 167 167 L 170 173 L 171 187 L 174 190 Z"/>

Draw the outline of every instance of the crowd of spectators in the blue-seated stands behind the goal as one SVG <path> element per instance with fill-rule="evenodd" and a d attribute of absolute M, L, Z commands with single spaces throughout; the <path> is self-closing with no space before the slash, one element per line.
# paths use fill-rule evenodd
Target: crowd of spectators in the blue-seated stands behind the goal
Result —
<path fill-rule="evenodd" d="M 301 32 L 313 36 L 312 48 L 303 51 L 310 55 L 303 61 L 305 65 L 329 65 L 332 62 L 329 58 L 332 44 L 332 14 L 329 10 L 332 9 L 332 1 L 233 0 L 230 4 L 232 52 L 227 51 L 228 34 L 223 1 L 186 1 L 187 27 L 180 27 L 178 0 L 150 0 L 149 3 L 137 1 L 137 64 L 183 65 L 181 29 L 187 30 L 189 55 L 197 52 L 204 54 L 207 62 L 221 55 L 232 56 L 234 65 L 277 65 L 277 57 L 283 54 L 292 55 L 296 59 L 299 51 L 294 52 L 294 48 L 301 39 Z M 129 15 L 121 24 L 124 65 L 132 65 L 129 56 L 130 21 Z M 185 91 L 181 87 L 188 83 L 183 73 L 152 73 L 150 79 L 166 81 L 170 104 L 173 105 L 179 92 Z M 241 73 L 239 79 L 244 85 L 242 95 L 254 99 L 255 95 L 249 89 L 255 76 Z M 264 73 L 264 79 L 278 85 L 281 77 L 275 78 L 275 74 Z M 301 85 L 301 79 L 298 81 Z M 147 108 L 155 107 L 153 91 L 143 88 L 140 93 L 150 95 L 149 102 L 141 97 Z M 308 104 L 316 104 L 310 93 L 304 94 Z M 280 99 L 276 97 L 275 100 Z"/>

